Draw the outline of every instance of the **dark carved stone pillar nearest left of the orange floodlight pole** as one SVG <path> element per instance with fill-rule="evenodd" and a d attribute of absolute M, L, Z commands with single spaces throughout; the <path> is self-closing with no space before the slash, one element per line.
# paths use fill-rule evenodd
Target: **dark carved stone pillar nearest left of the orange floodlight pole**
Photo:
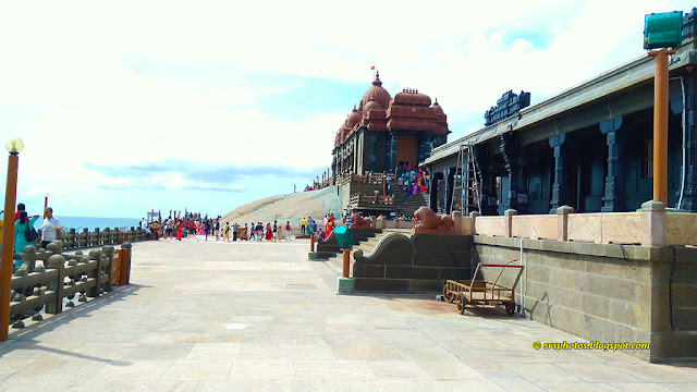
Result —
<path fill-rule="evenodd" d="M 600 123 L 600 132 L 608 138 L 608 176 L 601 212 L 626 211 L 626 187 L 624 185 L 623 156 L 624 132 L 620 131 L 622 117 Z"/>

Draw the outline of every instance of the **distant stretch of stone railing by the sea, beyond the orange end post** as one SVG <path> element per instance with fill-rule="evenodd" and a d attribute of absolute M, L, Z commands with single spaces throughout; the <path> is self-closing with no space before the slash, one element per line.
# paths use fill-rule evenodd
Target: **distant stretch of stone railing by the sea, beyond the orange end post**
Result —
<path fill-rule="evenodd" d="M 122 243 L 134 243 L 150 240 L 150 236 L 140 228 L 131 228 L 126 231 L 119 229 L 99 230 L 89 232 L 86 228 L 82 232 L 70 229 L 61 232 L 61 244 L 63 249 L 80 249 L 105 245 L 119 245 Z"/>

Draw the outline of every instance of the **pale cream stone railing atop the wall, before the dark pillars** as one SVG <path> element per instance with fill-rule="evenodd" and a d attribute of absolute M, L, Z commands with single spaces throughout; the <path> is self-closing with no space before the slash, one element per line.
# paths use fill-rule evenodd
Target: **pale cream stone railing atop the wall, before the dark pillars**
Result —
<path fill-rule="evenodd" d="M 647 201 L 637 212 L 574 213 L 563 206 L 557 215 L 503 217 L 455 217 L 460 234 L 533 240 L 575 241 L 596 244 L 643 246 L 697 245 L 697 213 L 665 211 L 661 203 Z"/>

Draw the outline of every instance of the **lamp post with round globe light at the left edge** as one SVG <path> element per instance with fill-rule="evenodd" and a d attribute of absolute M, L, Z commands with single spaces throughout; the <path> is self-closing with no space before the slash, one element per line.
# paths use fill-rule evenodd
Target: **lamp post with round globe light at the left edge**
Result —
<path fill-rule="evenodd" d="M 4 144 L 8 157 L 8 183 L 4 192 L 4 224 L 0 248 L 0 342 L 8 340 L 10 328 L 10 284 L 12 283 L 12 254 L 14 248 L 14 205 L 17 197 L 17 168 L 24 142 L 14 137 Z M 10 217 L 10 221 L 8 221 Z"/>

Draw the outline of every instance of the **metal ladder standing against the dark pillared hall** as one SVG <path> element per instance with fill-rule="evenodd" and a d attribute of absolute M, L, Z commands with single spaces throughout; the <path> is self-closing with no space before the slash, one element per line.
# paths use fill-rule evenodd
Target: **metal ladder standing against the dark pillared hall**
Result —
<path fill-rule="evenodd" d="M 453 175 L 451 211 L 462 211 L 463 217 L 468 216 L 472 211 L 481 210 L 480 182 L 477 179 L 477 162 L 473 147 L 474 145 L 469 143 L 460 145 L 457 166 Z"/>

